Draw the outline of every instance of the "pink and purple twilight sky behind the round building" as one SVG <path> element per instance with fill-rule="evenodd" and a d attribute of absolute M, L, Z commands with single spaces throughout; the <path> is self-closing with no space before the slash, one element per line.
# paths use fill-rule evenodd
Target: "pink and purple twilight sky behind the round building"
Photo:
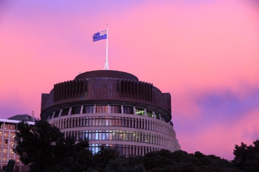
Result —
<path fill-rule="evenodd" d="M 41 94 L 102 70 L 151 82 L 172 99 L 181 149 L 232 160 L 259 139 L 256 0 L 1 0 L 0 117 L 34 111 Z"/>

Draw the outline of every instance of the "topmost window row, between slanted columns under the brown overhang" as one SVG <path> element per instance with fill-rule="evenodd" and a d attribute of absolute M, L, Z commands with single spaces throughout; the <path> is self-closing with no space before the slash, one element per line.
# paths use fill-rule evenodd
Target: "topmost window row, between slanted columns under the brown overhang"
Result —
<path fill-rule="evenodd" d="M 138 108 L 136 107 L 136 114 L 140 115 L 140 116 L 145 116 L 144 113 L 144 109 L 142 108 Z M 65 108 L 62 110 L 61 116 L 65 116 L 69 114 L 69 110 L 70 108 Z M 71 110 L 71 115 L 73 114 L 80 114 L 81 112 L 81 106 L 77 106 L 77 107 L 72 107 Z M 147 110 L 147 116 L 151 117 L 151 118 L 156 118 L 156 119 L 160 119 L 159 118 L 159 114 L 152 114 L 152 111 Z M 94 105 L 90 105 L 90 106 L 83 106 L 83 114 L 85 113 L 117 113 L 117 114 L 121 114 L 122 113 L 122 109 L 121 106 L 118 105 L 96 105 L 96 108 L 94 109 Z M 123 106 L 123 113 L 124 114 L 134 114 L 133 112 L 133 107 L 129 107 L 129 106 Z M 56 111 L 54 114 L 54 118 L 58 117 L 60 114 L 60 110 Z"/>

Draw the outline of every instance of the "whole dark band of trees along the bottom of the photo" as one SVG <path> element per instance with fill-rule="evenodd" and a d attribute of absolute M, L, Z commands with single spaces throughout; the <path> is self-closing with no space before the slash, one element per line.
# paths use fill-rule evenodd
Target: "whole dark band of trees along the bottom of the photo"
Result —
<path fill-rule="evenodd" d="M 99 152 L 89 151 L 88 140 L 75 142 L 64 138 L 60 130 L 46 120 L 36 120 L 35 125 L 21 121 L 16 128 L 15 153 L 34 171 L 259 171 L 259 140 L 254 146 L 241 143 L 234 150 L 231 162 L 215 155 L 182 150 L 160 150 L 144 156 L 122 156 L 118 149 L 100 146 Z"/>

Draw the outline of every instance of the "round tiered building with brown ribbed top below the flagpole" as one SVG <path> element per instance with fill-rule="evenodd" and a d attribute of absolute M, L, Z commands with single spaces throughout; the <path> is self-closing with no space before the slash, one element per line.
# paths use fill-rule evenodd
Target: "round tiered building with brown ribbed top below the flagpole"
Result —
<path fill-rule="evenodd" d="M 171 96 L 130 73 L 97 70 L 54 84 L 42 94 L 41 118 L 65 137 L 89 139 L 90 150 L 117 146 L 124 155 L 180 148 L 171 122 Z"/>

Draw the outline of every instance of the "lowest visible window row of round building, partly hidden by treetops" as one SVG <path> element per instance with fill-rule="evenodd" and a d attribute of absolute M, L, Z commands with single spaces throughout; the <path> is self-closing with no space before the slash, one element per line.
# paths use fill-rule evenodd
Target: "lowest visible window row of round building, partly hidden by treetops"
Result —
<path fill-rule="evenodd" d="M 89 144 L 89 150 L 92 153 L 98 153 L 100 151 L 100 146 L 98 144 Z M 110 146 L 116 149 L 121 155 L 140 155 L 144 156 L 146 153 L 160 150 L 159 148 L 149 147 L 149 146 L 134 146 L 134 145 L 115 145 L 106 144 L 105 146 Z"/>

